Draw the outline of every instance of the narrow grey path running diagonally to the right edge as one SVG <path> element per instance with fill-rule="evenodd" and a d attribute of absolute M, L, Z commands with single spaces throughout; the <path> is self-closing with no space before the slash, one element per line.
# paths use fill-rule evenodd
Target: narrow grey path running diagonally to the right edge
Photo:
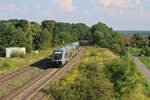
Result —
<path fill-rule="evenodd" d="M 135 56 L 129 54 L 129 56 L 135 61 L 139 70 L 143 73 L 143 75 L 149 80 L 150 82 L 150 70 Z"/>

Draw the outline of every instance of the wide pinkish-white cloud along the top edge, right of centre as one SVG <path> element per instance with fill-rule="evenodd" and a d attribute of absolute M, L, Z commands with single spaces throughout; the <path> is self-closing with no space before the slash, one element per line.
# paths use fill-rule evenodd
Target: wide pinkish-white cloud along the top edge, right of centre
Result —
<path fill-rule="evenodd" d="M 140 5 L 140 0 L 97 0 L 104 7 L 134 8 Z"/>

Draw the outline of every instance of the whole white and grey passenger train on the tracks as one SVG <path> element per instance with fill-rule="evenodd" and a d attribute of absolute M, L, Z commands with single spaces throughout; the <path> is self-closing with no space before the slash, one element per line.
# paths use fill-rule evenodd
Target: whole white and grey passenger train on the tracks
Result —
<path fill-rule="evenodd" d="M 56 66 L 64 66 L 69 62 L 79 50 L 79 42 L 74 42 L 65 47 L 53 50 L 52 63 Z"/>

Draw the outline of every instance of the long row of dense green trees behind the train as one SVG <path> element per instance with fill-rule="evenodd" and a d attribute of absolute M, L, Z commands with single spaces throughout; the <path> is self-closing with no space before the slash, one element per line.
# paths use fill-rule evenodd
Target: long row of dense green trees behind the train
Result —
<path fill-rule="evenodd" d="M 31 52 L 80 40 L 89 40 L 92 45 L 97 44 L 124 55 L 120 33 L 100 22 L 90 28 L 83 23 L 54 20 L 44 20 L 41 24 L 25 19 L 0 21 L 0 56 L 5 55 L 6 47 L 26 47 L 27 52 Z"/>

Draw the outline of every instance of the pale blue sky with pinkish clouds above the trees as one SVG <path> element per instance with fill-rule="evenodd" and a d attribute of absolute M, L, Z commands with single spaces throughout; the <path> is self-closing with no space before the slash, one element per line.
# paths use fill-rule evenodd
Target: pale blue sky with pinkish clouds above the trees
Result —
<path fill-rule="evenodd" d="M 103 22 L 114 30 L 150 30 L 150 0 L 1 0 L 0 20 Z"/>

